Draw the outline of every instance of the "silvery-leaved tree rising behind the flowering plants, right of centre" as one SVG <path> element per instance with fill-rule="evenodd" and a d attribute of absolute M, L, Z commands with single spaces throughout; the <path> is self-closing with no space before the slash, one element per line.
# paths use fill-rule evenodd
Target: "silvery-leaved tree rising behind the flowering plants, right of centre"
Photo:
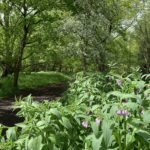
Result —
<path fill-rule="evenodd" d="M 75 20 L 78 23 L 81 61 L 86 71 L 92 63 L 97 70 L 108 70 L 109 49 L 118 36 L 124 36 L 138 13 L 140 1 L 76 0 Z M 72 8 L 72 7 L 71 7 Z M 126 23 L 128 22 L 128 23 Z M 74 29 L 73 29 L 74 30 Z"/>

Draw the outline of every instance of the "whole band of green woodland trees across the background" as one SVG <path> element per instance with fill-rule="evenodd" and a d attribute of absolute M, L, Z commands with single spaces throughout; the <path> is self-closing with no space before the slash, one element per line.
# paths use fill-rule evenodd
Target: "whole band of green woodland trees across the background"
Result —
<path fill-rule="evenodd" d="M 149 2 L 0 0 L 0 67 L 21 71 L 150 68 Z"/>

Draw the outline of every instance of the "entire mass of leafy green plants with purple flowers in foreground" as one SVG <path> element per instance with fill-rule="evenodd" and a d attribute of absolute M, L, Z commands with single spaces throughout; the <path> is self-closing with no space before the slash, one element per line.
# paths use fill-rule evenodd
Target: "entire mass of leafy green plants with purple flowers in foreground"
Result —
<path fill-rule="evenodd" d="M 18 115 L 25 121 L 0 138 L 1 149 L 149 149 L 148 80 L 134 75 L 80 73 L 66 97 L 66 103 L 59 100 L 39 104 L 30 96 L 19 100 Z"/>

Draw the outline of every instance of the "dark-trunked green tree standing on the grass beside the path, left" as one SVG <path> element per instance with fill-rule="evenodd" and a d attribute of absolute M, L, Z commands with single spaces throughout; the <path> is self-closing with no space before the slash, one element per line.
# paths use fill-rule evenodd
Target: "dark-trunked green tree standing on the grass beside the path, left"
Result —
<path fill-rule="evenodd" d="M 3 64 L 7 70 L 13 70 L 14 87 L 17 87 L 27 45 L 38 42 L 36 35 L 41 24 L 54 21 L 49 12 L 57 6 L 57 1 L 2 0 L 0 4 L 3 8 L 0 23 L 5 39 L 2 41 Z"/>

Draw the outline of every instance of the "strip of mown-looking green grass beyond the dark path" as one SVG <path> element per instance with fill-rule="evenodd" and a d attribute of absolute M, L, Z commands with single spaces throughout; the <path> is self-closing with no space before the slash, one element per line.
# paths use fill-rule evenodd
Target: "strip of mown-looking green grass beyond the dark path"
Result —
<path fill-rule="evenodd" d="M 58 72 L 32 72 L 30 74 L 21 73 L 19 77 L 18 89 L 13 88 L 13 77 L 0 79 L 0 97 L 13 96 L 19 90 L 35 89 L 39 86 L 48 84 L 62 83 L 68 81 L 70 78 L 67 75 Z"/>

